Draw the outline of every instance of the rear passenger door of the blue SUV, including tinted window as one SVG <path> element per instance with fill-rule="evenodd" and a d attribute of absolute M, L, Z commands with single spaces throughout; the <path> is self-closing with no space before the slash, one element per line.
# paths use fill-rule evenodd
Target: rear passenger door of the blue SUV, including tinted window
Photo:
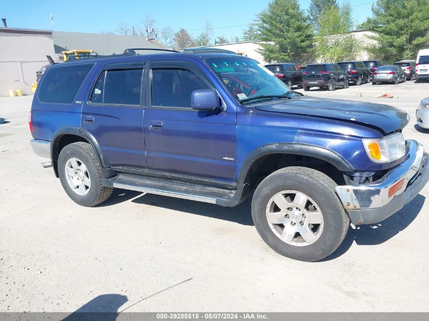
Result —
<path fill-rule="evenodd" d="M 83 102 L 81 131 L 94 137 L 105 161 L 119 171 L 147 170 L 142 106 L 145 65 L 104 66 Z"/>

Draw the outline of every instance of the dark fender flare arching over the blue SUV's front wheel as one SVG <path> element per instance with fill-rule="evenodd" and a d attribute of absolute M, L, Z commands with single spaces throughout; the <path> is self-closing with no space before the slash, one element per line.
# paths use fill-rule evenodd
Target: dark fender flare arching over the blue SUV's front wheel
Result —
<path fill-rule="evenodd" d="M 270 154 L 293 154 L 314 157 L 333 165 L 340 171 L 354 171 L 350 163 L 334 151 L 316 145 L 296 142 L 280 142 L 260 146 L 249 153 L 241 166 L 240 175 L 238 177 L 239 185 L 248 183 L 246 182 L 246 179 L 254 162 L 262 156 Z"/>

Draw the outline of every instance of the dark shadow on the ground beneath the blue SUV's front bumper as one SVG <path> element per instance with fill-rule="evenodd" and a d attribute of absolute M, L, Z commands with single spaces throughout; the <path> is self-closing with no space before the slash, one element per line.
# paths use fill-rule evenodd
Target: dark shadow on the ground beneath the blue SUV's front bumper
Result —
<path fill-rule="evenodd" d="M 423 207 L 424 200 L 425 197 L 418 194 L 401 210 L 380 223 L 358 225 L 355 229 L 349 227 L 346 238 L 337 251 L 319 262 L 334 260 L 342 256 L 348 251 L 353 241 L 358 245 L 378 245 L 391 239 L 414 221 Z"/>

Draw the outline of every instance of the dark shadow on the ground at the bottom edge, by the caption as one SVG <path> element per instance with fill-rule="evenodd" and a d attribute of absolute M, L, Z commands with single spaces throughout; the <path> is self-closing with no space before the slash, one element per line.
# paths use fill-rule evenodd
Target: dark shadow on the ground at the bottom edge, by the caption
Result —
<path fill-rule="evenodd" d="M 128 298 L 120 294 L 99 295 L 63 318 L 62 321 L 115 321 L 120 313 L 119 308 L 127 301 Z"/>

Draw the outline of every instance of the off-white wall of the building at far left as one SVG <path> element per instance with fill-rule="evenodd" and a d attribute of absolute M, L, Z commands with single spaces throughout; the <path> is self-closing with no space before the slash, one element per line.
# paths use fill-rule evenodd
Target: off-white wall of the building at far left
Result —
<path fill-rule="evenodd" d="M 0 28 L 0 96 L 9 90 L 22 90 L 30 95 L 36 72 L 48 64 L 46 55 L 55 57 L 52 35 L 5 32 Z"/>

